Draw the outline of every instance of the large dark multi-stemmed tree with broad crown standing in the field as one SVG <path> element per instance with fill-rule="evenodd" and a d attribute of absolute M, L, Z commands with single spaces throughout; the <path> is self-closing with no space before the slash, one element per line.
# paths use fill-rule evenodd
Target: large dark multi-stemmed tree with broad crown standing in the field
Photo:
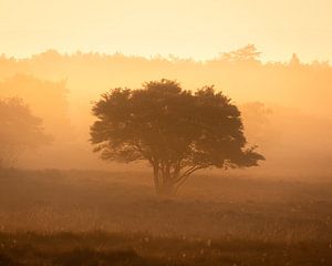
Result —
<path fill-rule="evenodd" d="M 249 167 L 263 160 L 256 146 L 245 147 L 239 110 L 214 86 L 191 93 L 163 79 L 138 90 L 117 88 L 102 94 L 92 111 L 94 151 L 103 160 L 146 160 L 158 194 L 175 194 L 198 170 Z"/>

